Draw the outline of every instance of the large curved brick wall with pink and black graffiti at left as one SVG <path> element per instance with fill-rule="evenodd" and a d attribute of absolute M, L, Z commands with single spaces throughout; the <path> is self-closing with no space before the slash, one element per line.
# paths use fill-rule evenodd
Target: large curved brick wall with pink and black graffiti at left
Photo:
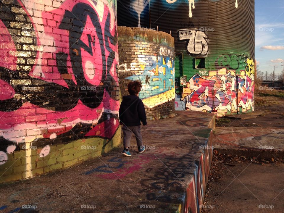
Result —
<path fill-rule="evenodd" d="M 120 143 L 115 4 L 0 0 L 0 182 Z"/>

